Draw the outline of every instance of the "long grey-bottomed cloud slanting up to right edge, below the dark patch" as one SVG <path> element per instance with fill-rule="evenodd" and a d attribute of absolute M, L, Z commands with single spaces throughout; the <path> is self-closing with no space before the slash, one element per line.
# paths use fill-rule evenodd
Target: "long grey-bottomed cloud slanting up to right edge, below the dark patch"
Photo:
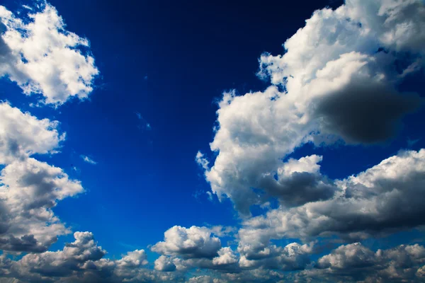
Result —
<path fill-rule="evenodd" d="M 402 151 L 368 170 L 336 181 L 338 194 L 291 209 L 272 209 L 245 221 L 239 237 L 272 238 L 336 234 L 347 239 L 382 236 L 425 224 L 425 149 Z"/>

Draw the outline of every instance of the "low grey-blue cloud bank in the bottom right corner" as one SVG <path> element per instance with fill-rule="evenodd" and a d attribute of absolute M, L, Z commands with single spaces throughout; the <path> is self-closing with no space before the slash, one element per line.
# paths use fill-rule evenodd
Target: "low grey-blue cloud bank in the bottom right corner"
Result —
<path fill-rule="evenodd" d="M 361 243 L 339 246 L 300 278 L 319 282 L 422 282 L 425 248 L 418 244 L 373 252 Z M 304 280 L 300 280 L 304 281 Z"/>

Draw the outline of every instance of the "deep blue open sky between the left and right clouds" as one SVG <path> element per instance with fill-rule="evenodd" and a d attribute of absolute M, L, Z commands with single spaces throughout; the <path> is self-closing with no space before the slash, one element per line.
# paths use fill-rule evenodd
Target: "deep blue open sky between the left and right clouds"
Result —
<path fill-rule="evenodd" d="M 156 243 L 174 225 L 238 223 L 229 201 L 208 200 L 208 183 L 194 161 L 196 152 L 208 151 L 212 141 L 215 100 L 232 88 L 239 93 L 266 88 L 268 83 L 256 77 L 260 54 L 282 53 L 285 39 L 314 9 L 336 7 L 341 1 L 50 3 L 68 30 L 90 40 L 101 71 L 96 90 L 89 101 L 73 100 L 59 110 L 30 108 L 28 99 L 35 98 L 24 97 L 6 80 L 0 81 L 0 95 L 37 117 L 61 122 L 60 129 L 67 132 L 62 153 L 38 158 L 81 180 L 86 194 L 62 200 L 55 212 L 74 230 L 92 231 L 113 257 L 130 246 Z M 13 9 L 23 2 L 3 4 Z M 143 121 L 136 112 L 152 129 L 138 127 Z M 324 173 L 344 178 L 407 147 L 407 138 L 420 137 L 418 117 L 423 113 L 407 117 L 409 127 L 384 146 L 332 147 L 314 153 L 326 152 Z M 412 148 L 423 146 L 419 140 Z M 293 156 L 312 152 L 307 145 Z M 81 154 L 98 164 L 84 163 Z"/>

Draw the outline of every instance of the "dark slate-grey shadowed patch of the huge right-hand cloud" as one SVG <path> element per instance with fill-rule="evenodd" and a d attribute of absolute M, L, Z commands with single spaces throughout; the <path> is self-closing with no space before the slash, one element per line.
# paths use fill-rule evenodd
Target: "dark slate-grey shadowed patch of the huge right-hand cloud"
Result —
<path fill-rule="evenodd" d="M 351 81 L 319 98 L 314 115 L 321 120 L 324 132 L 348 143 L 373 144 L 395 137 L 403 115 L 422 103 L 419 96 L 399 93 L 384 83 Z"/>

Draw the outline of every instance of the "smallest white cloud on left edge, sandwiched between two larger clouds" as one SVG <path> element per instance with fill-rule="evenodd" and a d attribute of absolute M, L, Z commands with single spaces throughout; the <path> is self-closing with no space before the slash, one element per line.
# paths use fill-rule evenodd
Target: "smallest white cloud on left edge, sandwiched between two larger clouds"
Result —
<path fill-rule="evenodd" d="M 31 154 L 55 153 L 65 135 L 59 122 L 39 120 L 8 103 L 0 103 L 0 163 L 11 163 Z"/>

